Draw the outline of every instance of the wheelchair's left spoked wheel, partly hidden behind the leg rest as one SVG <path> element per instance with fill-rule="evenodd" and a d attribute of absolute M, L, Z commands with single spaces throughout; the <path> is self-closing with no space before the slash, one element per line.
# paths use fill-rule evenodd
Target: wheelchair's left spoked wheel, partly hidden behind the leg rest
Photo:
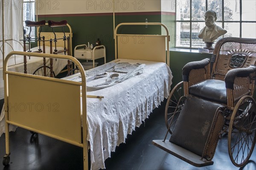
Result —
<path fill-rule="evenodd" d="M 172 134 L 172 130 L 175 126 L 180 111 L 184 105 L 186 97 L 182 97 L 184 93 L 183 82 L 179 82 L 171 91 L 165 108 L 165 123 L 169 133 Z M 181 98 L 182 97 L 182 98 Z M 169 128 L 169 125 L 170 128 Z"/>

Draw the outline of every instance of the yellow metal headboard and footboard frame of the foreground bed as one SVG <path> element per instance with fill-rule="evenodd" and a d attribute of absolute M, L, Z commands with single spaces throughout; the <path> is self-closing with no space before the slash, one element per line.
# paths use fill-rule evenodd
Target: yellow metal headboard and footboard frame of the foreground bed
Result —
<path fill-rule="evenodd" d="M 117 43 L 117 39 L 122 36 L 129 37 L 130 35 L 116 34 L 115 47 L 116 59 L 124 58 L 134 59 L 133 53 L 128 53 L 127 50 L 122 50 L 125 44 L 128 44 L 130 51 L 137 51 L 138 56 L 136 59 L 140 60 L 153 60 L 158 62 L 166 62 L 169 65 L 169 31 L 162 23 L 122 23 L 116 27 L 115 33 L 119 26 L 122 25 L 159 25 L 166 29 L 166 36 L 148 36 L 145 35 L 145 43 L 138 46 L 130 43 Z M 142 36 L 142 35 L 140 35 Z M 144 35 L 143 35 L 144 36 Z M 154 41 L 153 41 L 154 40 Z M 160 43 L 163 46 L 159 46 L 154 49 L 155 51 L 164 50 L 160 55 L 151 54 L 146 50 L 151 49 L 151 42 Z M 164 42 L 163 42 L 164 41 Z M 166 48 L 167 46 L 167 48 Z M 131 50 L 134 48 L 134 50 Z M 166 57 L 167 49 L 167 57 Z M 163 55 L 164 54 L 164 55 Z M 13 71 L 8 71 L 8 59 L 12 55 L 27 55 L 34 57 L 46 57 L 46 58 L 57 58 L 57 59 L 70 59 L 73 61 L 81 72 L 81 82 L 73 82 L 64 79 L 55 79 L 50 77 L 42 77 L 31 74 L 17 73 Z M 166 59 L 167 58 L 167 59 Z M 16 125 L 18 127 L 25 128 L 27 130 L 34 131 L 36 133 L 41 133 L 61 141 L 74 144 L 79 147 L 83 147 L 83 161 L 84 170 L 88 169 L 88 142 L 87 142 L 87 97 L 86 96 L 86 77 L 85 72 L 81 63 L 72 56 L 67 55 L 57 55 L 57 54 L 40 54 L 32 52 L 22 52 L 22 51 L 12 51 L 9 53 L 4 61 L 3 65 L 3 79 L 4 79 L 4 110 L 5 110 L 5 132 L 6 132 L 6 155 L 4 156 L 4 161 L 9 163 L 9 124 Z M 18 87 L 16 84 L 22 81 Z M 40 86 L 41 90 L 38 91 L 36 87 Z M 49 86 L 51 88 L 49 88 Z M 81 87 L 81 94 L 80 94 Z M 29 93 L 28 93 L 29 92 Z M 51 96 L 51 97 L 49 97 Z M 66 96 L 69 96 L 73 100 L 63 100 Z M 82 100 L 82 106 L 80 105 L 80 97 Z M 59 104 L 59 112 L 52 112 L 48 110 L 42 110 L 40 112 L 36 111 L 36 108 L 32 108 L 30 112 L 13 111 L 9 108 L 9 104 L 12 103 L 41 103 L 41 105 L 46 105 L 47 103 Z M 81 118 L 81 107 L 82 107 L 82 118 Z M 31 114 L 33 113 L 33 114 Z M 36 113 L 36 114 L 35 114 Z M 82 119 L 82 121 L 81 121 Z M 46 123 L 47 122 L 47 123 Z M 46 126 L 47 124 L 47 126 Z M 82 126 L 81 126 L 82 125 Z M 82 128 L 81 128 L 82 127 Z M 86 142 L 82 142 L 86 141 Z M 3 162 L 4 163 L 4 162 Z M 7 163 L 7 164 L 8 164 Z"/>

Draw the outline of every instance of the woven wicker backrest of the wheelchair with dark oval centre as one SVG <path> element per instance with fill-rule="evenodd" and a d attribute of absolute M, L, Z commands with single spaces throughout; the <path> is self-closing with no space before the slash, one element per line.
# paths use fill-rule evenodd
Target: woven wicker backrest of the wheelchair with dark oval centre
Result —
<path fill-rule="evenodd" d="M 256 39 L 227 37 L 219 40 L 213 51 L 216 55 L 212 78 L 224 80 L 233 68 L 256 65 Z"/>

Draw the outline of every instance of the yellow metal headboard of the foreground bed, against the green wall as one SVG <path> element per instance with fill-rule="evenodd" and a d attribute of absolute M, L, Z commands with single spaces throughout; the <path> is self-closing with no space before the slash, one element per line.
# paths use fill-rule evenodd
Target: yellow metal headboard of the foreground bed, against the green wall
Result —
<path fill-rule="evenodd" d="M 166 35 L 117 34 L 120 26 L 159 25 L 166 30 Z M 166 62 L 169 65 L 169 31 L 162 23 L 120 23 L 115 29 L 116 59 L 140 59 Z M 169 50 L 168 50 L 169 51 Z"/>

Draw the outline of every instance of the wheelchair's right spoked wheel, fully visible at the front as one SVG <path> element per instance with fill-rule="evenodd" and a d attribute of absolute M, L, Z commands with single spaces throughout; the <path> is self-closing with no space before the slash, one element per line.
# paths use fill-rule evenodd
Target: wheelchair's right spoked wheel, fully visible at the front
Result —
<path fill-rule="evenodd" d="M 256 103 L 243 96 L 236 104 L 230 119 L 228 152 L 236 167 L 247 164 L 256 142 Z"/>

